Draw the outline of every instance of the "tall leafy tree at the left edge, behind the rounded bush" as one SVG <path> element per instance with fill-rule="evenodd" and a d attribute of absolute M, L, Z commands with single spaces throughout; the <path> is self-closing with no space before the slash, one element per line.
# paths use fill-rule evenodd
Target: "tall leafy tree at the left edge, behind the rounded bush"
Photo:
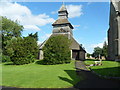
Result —
<path fill-rule="evenodd" d="M 23 31 L 23 26 L 18 23 L 18 21 L 12 21 L 10 19 L 7 19 L 6 17 L 2 17 L 0 21 L 2 22 L 2 52 L 4 55 L 7 55 L 6 52 L 6 45 L 9 40 L 11 40 L 12 37 L 20 37 L 21 32 Z"/>

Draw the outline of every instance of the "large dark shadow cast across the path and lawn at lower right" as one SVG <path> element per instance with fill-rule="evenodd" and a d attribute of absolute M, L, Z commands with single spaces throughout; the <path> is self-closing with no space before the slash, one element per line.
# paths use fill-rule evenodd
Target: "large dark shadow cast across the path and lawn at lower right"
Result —
<path fill-rule="evenodd" d="M 98 69 L 98 71 L 104 72 L 103 70 L 105 70 L 105 72 L 109 72 L 110 69 L 114 71 L 117 68 Z M 72 84 L 74 88 L 79 88 L 79 89 L 80 88 L 120 88 L 119 80 L 102 78 L 94 73 L 91 73 L 91 71 L 82 70 L 82 69 L 77 69 L 77 71 L 75 70 L 64 70 L 64 71 L 70 76 L 71 79 L 61 76 L 58 77 L 61 80 Z M 76 74 L 79 76 L 78 78 Z"/>

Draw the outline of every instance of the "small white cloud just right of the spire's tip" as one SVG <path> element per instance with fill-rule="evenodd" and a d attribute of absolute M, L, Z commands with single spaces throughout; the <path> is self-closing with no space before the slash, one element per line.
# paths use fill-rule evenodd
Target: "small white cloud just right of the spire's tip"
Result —
<path fill-rule="evenodd" d="M 69 13 L 69 18 L 80 17 L 82 12 L 82 5 L 66 5 L 66 8 Z"/>

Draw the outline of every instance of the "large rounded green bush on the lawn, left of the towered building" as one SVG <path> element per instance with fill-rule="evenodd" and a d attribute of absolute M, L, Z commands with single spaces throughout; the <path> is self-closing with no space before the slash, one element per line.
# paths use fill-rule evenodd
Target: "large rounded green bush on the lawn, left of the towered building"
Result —
<path fill-rule="evenodd" d="M 22 65 L 34 62 L 37 57 L 37 42 L 32 37 L 12 39 L 7 44 L 7 51 L 14 64 Z"/>

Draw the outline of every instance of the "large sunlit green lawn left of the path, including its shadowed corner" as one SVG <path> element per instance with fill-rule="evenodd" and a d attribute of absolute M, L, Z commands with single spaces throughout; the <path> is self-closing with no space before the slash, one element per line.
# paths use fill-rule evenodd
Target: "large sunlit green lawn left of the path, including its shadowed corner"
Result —
<path fill-rule="evenodd" d="M 75 72 L 74 61 L 70 64 L 10 65 L 3 63 L 2 86 L 20 88 L 67 88 L 72 87 L 81 77 Z M 1 68 L 0 68 L 1 69 Z"/>

